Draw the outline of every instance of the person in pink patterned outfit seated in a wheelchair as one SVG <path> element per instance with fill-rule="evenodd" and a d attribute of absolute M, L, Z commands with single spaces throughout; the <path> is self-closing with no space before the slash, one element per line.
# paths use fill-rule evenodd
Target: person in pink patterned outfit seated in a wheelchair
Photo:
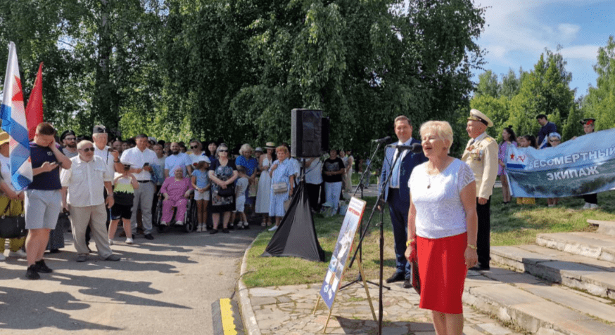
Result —
<path fill-rule="evenodd" d="M 163 186 L 160 188 L 160 194 L 163 195 L 163 216 L 160 218 L 160 228 L 165 230 L 168 223 L 173 218 L 173 207 L 177 208 L 175 212 L 175 224 L 183 225 L 192 183 L 190 178 L 184 176 L 184 166 L 176 165 L 171 171 L 171 176 L 165 179 Z"/>

